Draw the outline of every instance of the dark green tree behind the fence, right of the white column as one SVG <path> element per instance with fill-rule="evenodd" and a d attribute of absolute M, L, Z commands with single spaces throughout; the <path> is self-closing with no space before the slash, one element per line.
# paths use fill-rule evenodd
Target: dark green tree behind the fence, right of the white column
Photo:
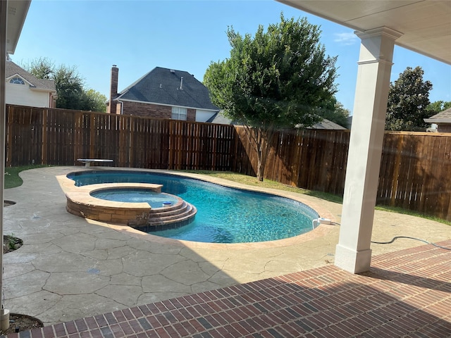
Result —
<path fill-rule="evenodd" d="M 428 118 L 432 83 L 424 81 L 423 75 L 421 67 L 407 67 L 395 83 L 390 84 L 385 130 L 426 130 L 424 118 Z"/>

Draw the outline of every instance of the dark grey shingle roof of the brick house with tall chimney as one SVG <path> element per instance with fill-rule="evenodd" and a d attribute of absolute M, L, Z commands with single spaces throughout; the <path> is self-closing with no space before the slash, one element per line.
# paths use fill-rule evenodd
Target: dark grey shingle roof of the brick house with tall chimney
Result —
<path fill-rule="evenodd" d="M 208 89 L 194 75 L 161 67 L 131 84 L 116 99 L 219 111 L 211 103 Z"/>

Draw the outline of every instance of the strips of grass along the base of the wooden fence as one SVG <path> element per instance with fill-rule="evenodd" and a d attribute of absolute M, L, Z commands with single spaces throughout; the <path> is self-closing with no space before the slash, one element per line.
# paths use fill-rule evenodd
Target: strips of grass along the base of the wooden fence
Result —
<path fill-rule="evenodd" d="M 5 168 L 5 189 L 19 187 L 23 183 L 22 179 L 19 177 L 19 173 L 21 171 L 28 170 L 28 169 L 34 169 L 34 168 L 42 168 L 42 167 L 46 167 L 46 166 L 49 166 L 49 165 L 23 165 L 20 167 Z M 237 173 L 230 173 L 230 172 L 224 172 L 224 171 L 209 171 L 209 170 L 185 170 L 185 172 L 209 175 L 209 176 L 213 176 L 213 177 L 223 178 L 224 180 L 230 180 L 233 182 L 239 182 L 242 184 L 248 184 L 248 185 L 257 186 L 257 187 L 280 189 L 280 190 L 285 190 L 288 192 L 297 192 L 298 194 L 307 194 L 309 196 L 315 196 L 315 197 L 318 197 L 319 199 L 324 199 L 326 201 L 340 203 L 340 204 L 343 201 L 342 196 L 328 194 L 327 192 L 314 192 L 312 190 L 291 187 L 290 185 L 285 185 L 285 184 L 281 184 L 281 183 L 270 181 L 270 180 L 264 180 L 263 182 L 259 182 L 259 180 L 257 180 L 257 177 L 252 177 L 252 176 L 247 176 L 247 175 L 242 175 L 242 174 L 237 174 Z M 450 221 L 442 220 L 442 219 L 436 218 L 434 216 L 424 215 L 422 213 L 418 213 L 418 212 L 403 209 L 403 208 L 397 208 L 397 207 L 391 207 L 391 206 L 376 206 L 376 210 L 390 211 L 392 213 L 403 213 L 406 215 L 427 218 L 428 220 L 435 220 L 436 222 L 451 225 Z"/>

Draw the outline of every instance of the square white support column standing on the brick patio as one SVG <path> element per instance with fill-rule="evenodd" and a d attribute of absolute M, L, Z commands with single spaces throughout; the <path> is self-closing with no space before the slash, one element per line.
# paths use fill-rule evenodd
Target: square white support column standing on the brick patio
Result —
<path fill-rule="evenodd" d="M 371 263 L 371 232 L 393 47 L 401 33 L 381 27 L 356 34 L 362 44 L 335 265 L 351 273 L 362 273 L 369 270 Z"/>

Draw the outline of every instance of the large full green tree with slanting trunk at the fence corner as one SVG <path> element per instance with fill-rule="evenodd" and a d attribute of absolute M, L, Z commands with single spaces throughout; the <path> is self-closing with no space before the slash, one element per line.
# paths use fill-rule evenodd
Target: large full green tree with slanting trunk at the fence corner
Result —
<path fill-rule="evenodd" d="M 277 130 L 309 127 L 335 94 L 336 57 L 326 56 L 321 31 L 306 18 L 259 26 L 252 37 L 229 27 L 230 58 L 212 62 L 204 75 L 211 100 L 245 127 L 257 151 L 262 181 L 269 144 Z"/>

